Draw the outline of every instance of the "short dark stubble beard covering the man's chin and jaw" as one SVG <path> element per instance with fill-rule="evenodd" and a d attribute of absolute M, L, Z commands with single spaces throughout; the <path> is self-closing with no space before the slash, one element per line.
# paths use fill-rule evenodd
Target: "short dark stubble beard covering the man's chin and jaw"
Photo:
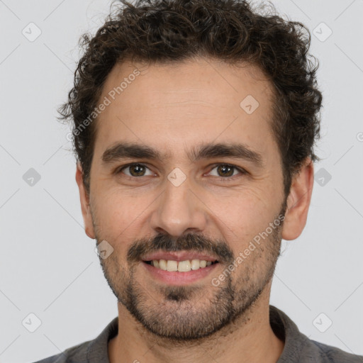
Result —
<path fill-rule="evenodd" d="M 281 212 L 284 215 L 284 209 Z M 174 345 L 201 342 L 236 319 L 238 325 L 249 320 L 251 309 L 273 277 L 281 247 L 281 228 L 282 223 L 238 264 L 234 274 L 225 274 L 225 280 L 218 286 L 169 286 L 156 281 L 154 284 L 140 274 L 138 265 L 143 262 L 121 265 L 116 253 L 107 259 L 100 257 L 100 263 L 118 303 L 146 332 Z M 101 242 L 98 237 L 96 233 L 96 240 Z M 221 273 L 228 270 L 228 265 L 223 265 Z"/>

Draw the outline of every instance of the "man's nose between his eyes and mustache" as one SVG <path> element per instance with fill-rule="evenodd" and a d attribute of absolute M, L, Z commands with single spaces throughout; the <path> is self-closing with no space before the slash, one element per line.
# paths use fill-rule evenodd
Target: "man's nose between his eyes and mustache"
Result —
<path fill-rule="evenodd" d="M 155 204 L 150 227 L 158 233 L 169 233 L 175 237 L 201 233 L 206 228 L 206 206 L 197 191 L 191 189 L 188 178 L 179 186 L 167 180 Z"/>

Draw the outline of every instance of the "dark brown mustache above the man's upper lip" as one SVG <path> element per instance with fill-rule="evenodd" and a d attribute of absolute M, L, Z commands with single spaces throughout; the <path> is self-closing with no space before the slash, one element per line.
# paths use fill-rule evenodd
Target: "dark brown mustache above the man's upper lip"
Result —
<path fill-rule="evenodd" d="M 233 251 L 223 240 L 209 240 L 202 235 L 189 233 L 178 238 L 158 234 L 154 238 L 137 240 L 128 249 L 128 262 L 139 262 L 143 255 L 162 250 L 163 252 L 191 251 L 216 255 L 218 262 L 233 262 Z"/>

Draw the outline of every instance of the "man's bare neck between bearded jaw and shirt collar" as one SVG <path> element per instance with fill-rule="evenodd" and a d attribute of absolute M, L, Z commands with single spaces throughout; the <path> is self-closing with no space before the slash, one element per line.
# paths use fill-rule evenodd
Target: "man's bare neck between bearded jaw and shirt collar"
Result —
<path fill-rule="evenodd" d="M 269 323 L 269 292 L 265 286 L 258 301 L 233 323 L 192 342 L 171 342 L 146 330 L 118 303 L 118 335 L 108 342 L 111 363 L 276 363 L 284 342 L 274 335 Z"/>

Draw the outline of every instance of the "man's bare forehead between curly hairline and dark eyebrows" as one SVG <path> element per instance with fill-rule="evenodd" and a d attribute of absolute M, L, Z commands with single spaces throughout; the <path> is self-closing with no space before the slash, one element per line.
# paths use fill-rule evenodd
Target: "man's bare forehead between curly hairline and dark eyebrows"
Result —
<path fill-rule="evenodd" d="M 277 148 L 269 127 L 272 85 L 250 65 L 202 59 L 169 65 L 126 61 L 108 74 L 99 102 L 108 106 L 96 119 L 98 157 L 119 141 L 169 156 L 188 150 L 186 145 L 213 141 L 244 143 L 262 154 Z"/>

